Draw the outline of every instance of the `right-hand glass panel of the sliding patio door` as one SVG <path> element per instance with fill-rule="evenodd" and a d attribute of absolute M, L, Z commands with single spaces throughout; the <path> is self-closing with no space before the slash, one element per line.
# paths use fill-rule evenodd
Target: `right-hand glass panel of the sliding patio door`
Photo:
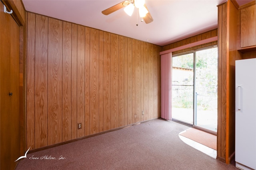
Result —
<path fill-rule="evenodd" d="M 197 51 L 195 56 L 194 125 L 217 131 L 218 48 Z"/>

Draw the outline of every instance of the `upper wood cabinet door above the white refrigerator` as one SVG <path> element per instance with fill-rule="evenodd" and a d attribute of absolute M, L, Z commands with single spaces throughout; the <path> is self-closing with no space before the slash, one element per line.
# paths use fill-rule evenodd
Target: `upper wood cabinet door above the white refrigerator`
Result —
<path fill-rule="evenodd" d="M 255 3 L 241 9 L 241 48 L 256 45 Z"/>

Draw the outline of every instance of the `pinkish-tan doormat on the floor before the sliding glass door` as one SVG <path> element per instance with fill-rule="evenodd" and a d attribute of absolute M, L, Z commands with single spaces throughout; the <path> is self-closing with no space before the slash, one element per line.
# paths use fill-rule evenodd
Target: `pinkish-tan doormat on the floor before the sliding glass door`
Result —
<path fill-rule="evenodd" d="M 180 135 L 217 150 L 217 136 L 195 128 L 190 128 Z"/>

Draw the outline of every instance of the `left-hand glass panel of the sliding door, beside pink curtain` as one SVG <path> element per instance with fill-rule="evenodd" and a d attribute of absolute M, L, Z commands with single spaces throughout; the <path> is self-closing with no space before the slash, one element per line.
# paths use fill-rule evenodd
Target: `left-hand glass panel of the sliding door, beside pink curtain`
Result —
<path fill-rule="evenodd" d="M 172 119 L 193 124 L 193 53 L 172 57 Z"/>

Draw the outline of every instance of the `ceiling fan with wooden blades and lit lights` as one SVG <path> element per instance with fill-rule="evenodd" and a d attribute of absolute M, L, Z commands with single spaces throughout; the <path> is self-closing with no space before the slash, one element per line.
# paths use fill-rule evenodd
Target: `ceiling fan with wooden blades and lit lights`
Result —
<path fill-rule="evenodd" d="M 111 14 L 112 12 L 120 10 L 121 8 L 124 8 L 124 12 L 126 12 L 126 14 L 128 14 L 129 16 L 132 16 L 134 7 L 138 8 L 140 17 L 143 18 L 145 23 L 150 23 L 153 21 L 153 18 L 145 4 L 145 0 L 125 0 L 123 2 L 120 2 L 119 4 L 116 4 L 102 11 L 102 14 L 108 15 L 108 14 Z"/>

